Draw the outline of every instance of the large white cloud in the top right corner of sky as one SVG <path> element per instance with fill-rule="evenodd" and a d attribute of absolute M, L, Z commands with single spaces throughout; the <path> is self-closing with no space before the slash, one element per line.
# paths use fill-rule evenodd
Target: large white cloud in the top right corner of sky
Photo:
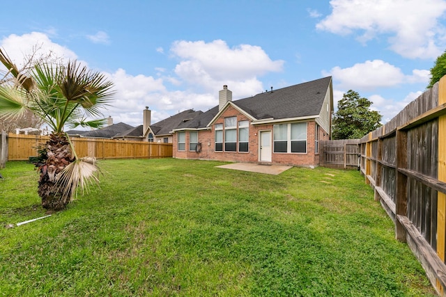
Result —
<path fill-rule="evenodd" d="M 446 11 L 444 0 L 332 0 L 332 14 L 317 29 L 367 42 L 390 35 L 390 48 L 406 58 L 436 58 L 445 46 L 445 29 L 438 23 Z"/>

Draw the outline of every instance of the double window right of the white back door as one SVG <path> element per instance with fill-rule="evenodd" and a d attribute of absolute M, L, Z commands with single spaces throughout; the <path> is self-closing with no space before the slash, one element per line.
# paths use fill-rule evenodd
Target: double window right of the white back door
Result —
<path fill-rule="evenodd" d="M 307 123 L 274 125 L 274 152 L 307 152 Z"/>

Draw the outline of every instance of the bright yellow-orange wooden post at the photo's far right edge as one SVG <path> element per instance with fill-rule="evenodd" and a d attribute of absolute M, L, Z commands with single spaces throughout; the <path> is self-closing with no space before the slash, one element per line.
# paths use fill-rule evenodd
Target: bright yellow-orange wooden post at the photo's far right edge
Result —
<path fill-rule="evenodd" d="M 446 77 L 438 83 L 438 105 L 446 103 Z M 446 115 L 438 118 L 438 180 L 446 182 Z M 446 194 L 437 192 L 437 255 L 445 262 L 446 238 Z M 443 286 L 436 281 L 436 287 L 443 294 Z"/>

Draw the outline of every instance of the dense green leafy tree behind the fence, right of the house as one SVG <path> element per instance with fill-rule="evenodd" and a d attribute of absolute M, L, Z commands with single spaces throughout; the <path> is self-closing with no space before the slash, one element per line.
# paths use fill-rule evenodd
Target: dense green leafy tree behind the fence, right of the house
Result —
<path fill-rule="evenodd" d="M 354 90 L 348 90 L 338 102 L 333 118 L 333 139 L 362 138 L 370 131 L 380 127 L 383 118 L 378 111 L 371 111 L 373 102 L 360 97 Z"/>

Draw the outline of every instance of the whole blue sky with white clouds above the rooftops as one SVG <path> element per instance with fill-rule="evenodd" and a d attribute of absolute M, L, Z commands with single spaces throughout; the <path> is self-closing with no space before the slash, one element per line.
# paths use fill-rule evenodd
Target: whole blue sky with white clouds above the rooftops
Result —
<path fill-rule="evenodd" d="M 445 0 L 7 1 L 0 47 L 17 65 L 33 46 L 114 81 L 104 111 L 142 124 L 331 75 L 390 120 L 429 83 L 446 49 Z"/>

